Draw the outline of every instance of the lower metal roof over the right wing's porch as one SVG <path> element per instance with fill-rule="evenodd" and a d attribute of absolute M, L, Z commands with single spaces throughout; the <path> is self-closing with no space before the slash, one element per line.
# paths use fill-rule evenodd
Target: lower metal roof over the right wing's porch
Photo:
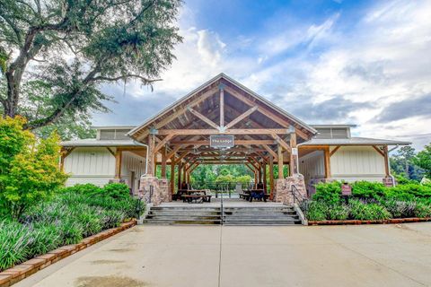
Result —
<path fill-rule="evenodd" d="M 383 144 L 383 145 L 409 145 L 409 142 L 403 141 L 392 141 L 383 140 L 378 138 L 368 138 L 368 137 L 351 137 L 351 138 L 313 138 L 308 142 L 299 143 L 298 145 L 373 145 L 373 144 Z"/>

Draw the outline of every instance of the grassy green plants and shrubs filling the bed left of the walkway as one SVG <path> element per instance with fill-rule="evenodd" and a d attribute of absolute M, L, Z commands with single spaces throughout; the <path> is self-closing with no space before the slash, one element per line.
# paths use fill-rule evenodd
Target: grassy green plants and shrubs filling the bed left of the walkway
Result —
<path fill-rule="evenodd" d="M 52 200 L 32 205 L 19 222 L 0 222 L 0 271 L 117 227 L 137 215 L 138 204 L 141 213 L 145 210 L 136 198 L 119 198 L 117 192 L 103 193 L 99 189 L 91 185 L 67 187 Z"/>

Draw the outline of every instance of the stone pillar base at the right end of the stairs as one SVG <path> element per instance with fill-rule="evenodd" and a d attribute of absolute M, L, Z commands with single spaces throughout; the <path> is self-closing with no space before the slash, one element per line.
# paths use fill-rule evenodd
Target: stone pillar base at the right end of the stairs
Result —
<path fill-rule="evenodd" d="M 293 205 L 294 196 L 292 195 L 292 185 L 295 185 L 298 193 L 304 198 L 307 197 L 307 190 L 305 187 L 305 182 L 302 176 L 287 177 L 283 179 L 276 179 L 274 182 L 274 201 Z"/>

